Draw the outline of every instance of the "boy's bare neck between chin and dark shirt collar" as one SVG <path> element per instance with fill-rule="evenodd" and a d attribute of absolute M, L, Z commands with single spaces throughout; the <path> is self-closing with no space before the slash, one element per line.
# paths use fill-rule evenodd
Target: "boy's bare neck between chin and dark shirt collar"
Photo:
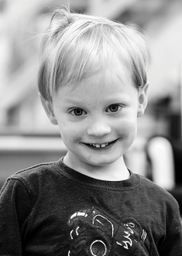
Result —
<path fill-rule="evenodd" d="M 65 165 L 70 167 L 71 169 L 80 172 L 88 177 L 94 177 L 100 180 L 121 181 L 128 179 L 130 176 L 128 168 L 125 165 L 122 157 L 120 157 L 117 161 L 111 163 L 110 165 L 105 166 L 92 166 L 84 162 L 82 162 L 81 166 L 79 160 L 74 160 L 73 163 L 67 154 L 65 155 L 63 161 Z"/>

